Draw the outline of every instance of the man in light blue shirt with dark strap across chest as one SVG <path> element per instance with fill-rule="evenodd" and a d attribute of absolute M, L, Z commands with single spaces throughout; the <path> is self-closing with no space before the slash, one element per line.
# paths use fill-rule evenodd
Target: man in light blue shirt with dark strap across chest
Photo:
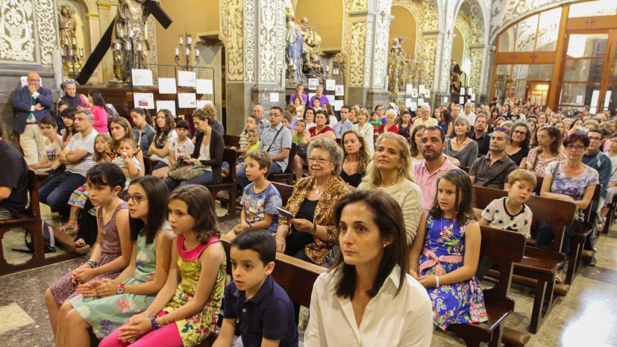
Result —
<path fill-rule="evenodd" d="M 270 153 L 272 158 L 270 172 L 273 174 L 280 174 L 287 169 L 289 151 L 291 151 L 291 132 L 283 126 L 282 120 L 283 109 L 278 106 L 272 107 L 270 109 L 270 126 L 262 129 L 262 137 L 259 141 L 259 148 Z M 249 184 L 249 180 L 246 178 L 246 168 L 241 167 L 236 172 L 236 180 L 244 191 L 244 187 Z"/>

